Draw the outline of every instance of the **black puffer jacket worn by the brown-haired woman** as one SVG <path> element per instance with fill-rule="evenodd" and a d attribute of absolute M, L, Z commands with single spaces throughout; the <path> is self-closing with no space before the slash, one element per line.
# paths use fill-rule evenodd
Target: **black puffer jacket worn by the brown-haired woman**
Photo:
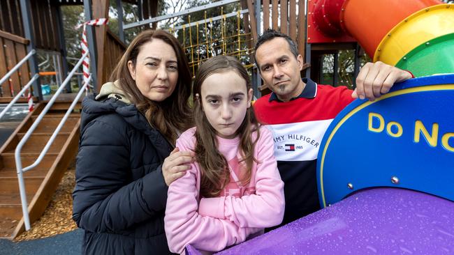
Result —
<path fill-rule="evenodd" d="M 84 254 L 169 254 L 168 187 L 161 166 L 172 146 L 134 105 L 82 102 L 73 219 Z"/>

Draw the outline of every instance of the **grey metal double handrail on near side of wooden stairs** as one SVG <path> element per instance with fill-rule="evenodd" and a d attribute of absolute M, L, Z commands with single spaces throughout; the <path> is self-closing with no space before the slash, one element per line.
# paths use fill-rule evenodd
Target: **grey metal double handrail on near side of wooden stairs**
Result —
<path fill-rule="evenodd" d="M 36 129 L 38 124 L 43 119 L 44 115 L 47 114 L 47 111 L 49 111 L 50 107 L 52 107 L 52 105 L 54 104 L 55 100 L 57 100 L 57 97 L 59 96 L 61 91 L 63 91 L 66 84 L 70 81 L 71 77 L 73 77 L 75 71 L 79 68 L 79 66 L 82 64 L 83 59 L 85 59 L 85 57 L 88 54 L 89 54 L 89 52 L 85 52 L 85 54 L 82 55 L 82 57 L 80 58 L 78 63 L 74 66 L 73 70 L 71 70 L 68 77 L 66 77 L 66 79 L 61 84 L 61 86 L 57 89 L 57 91 L 55 92 L 55 95 L 53 95 L 52 98 L 49 100 L 49 102 L 47 103 L 47 105 L 45 106 L 45 108 L 43 109 L 41 114 L 39 114 L 38 118 L 36 118 L 34 123 L 31 125 L 31 127 L 29 128 L 27 133 L 24 135 L 24 137 L 22 137 L 22 139 L 20 140 L 19 144 L 17 144 L 17 147 L 15 149 L 14 157 L 15 157 L 16 169 L 17 169 L 17 180 L 19 180 L 20 200 L 22 202 L 22 214 L 24 215 L 25 230 L 27 230 L 27 231 L 30 229 L 30 219 L 29 219 L 29 211 L 27 210 L 28 209 L 27 195 L 25 194 L 25 184 L 24 184 L 24 177 L 23 177 L 22 173 L 24 171 L 28 171 L 28 170 L 36 167 L 36 165 L 38 165 L 41 162 L 41 160 L 43 160 L 45 153 L 47 153 L 47 150 L 49 150 L 55 137 L 57 137 L 58 132 L 61 130 L 61 127 L 64 125 L 69 114 L 71 114 L 71 111 L 73 111 L 75 104 L 77 104 L 79 98 L 82 96 L 82 93 L 85 91 L 85 88 L 88 86 L 88 83 L 91 79 L 91 75 L 89 76 L 89 79 L 87 79 L 87 82 L 85 82 L 85 84 L 82 86 L 82 88 L 80 88 L 78 95 L 75 97 L 73 103 L 68 108 L 68 111 L 66 111 L 66 114 L 61 119 L 59 125 L 57 126 L 54 133 L 52 134 L 52 137 L 50 137 L 49 141 L 43 148 L 43 151 L 41 151 L 41 154 L 39 155 L 38 159 L 36 159 L 36 161 L 33 164 L 31 164 L 29 167 L 25 167 L 22 169 L 22 160 L 20 159 L 20 151 L 22 150 L 22 146 L 24 146 L 25 142 L 27 142 L 27 140 L 31 136 L 31 133 L 34 132 L 34 130 Z"/>

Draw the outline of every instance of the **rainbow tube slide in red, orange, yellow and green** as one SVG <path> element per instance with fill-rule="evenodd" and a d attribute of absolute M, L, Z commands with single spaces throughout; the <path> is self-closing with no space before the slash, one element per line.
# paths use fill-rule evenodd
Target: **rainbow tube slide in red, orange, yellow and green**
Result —
<path fill-rule="evenodd" d="M 319 0 L 314 21 L 326 36 L 343 31 L 374 61 L 417 77 L 454 72 L 454 4 L 438 0 Z"/>

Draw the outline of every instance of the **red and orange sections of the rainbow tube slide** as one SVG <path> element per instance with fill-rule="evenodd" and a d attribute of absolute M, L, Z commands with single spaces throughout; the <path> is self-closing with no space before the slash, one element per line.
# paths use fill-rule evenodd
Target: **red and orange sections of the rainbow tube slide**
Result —
<path fill-rule="evenodd" d="M 308 3 L 309 43 L 342 41 L 342 39 L 346 41 L 345 38 L 349 35 L 360 43 L 369 56 L 373 57 L 376 47 L 395 25 L 412 13 L 441 2 L 438 0 L 309 0 Z M 311 23 L 314 29 L 310 29 Z M 316 33 L 321 33 L 321 36 Z M 335 40 L 336 38 L 339 40 Z"/>

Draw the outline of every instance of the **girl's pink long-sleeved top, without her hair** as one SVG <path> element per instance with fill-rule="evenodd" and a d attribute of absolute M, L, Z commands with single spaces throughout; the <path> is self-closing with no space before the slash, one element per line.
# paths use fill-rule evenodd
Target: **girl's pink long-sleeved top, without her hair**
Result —
<path fill-rule="evenodd" d="M 177 139 L 180 151 L 193 150 L 194 132 L 195 127 Z M 256 132 L 252 135 L 252 139 L 255 138 Z M 271 132 L 260 127 L 254 148 L 258 163 L 254 162 L 247 187 L 237 182 L 244 166 L 239 163 L 240 139 L 217 139 L 219 151 L 229 164 L 230 183 L 219 197 L 200 197 L 200 168 L 195 162 L 182 178 L 170 184 L 164 221 L 171 252 L 182 254 L 186 245 L 200 251 L 218 252 L 282 222 L 284 183 L 277 170 Z"/>

